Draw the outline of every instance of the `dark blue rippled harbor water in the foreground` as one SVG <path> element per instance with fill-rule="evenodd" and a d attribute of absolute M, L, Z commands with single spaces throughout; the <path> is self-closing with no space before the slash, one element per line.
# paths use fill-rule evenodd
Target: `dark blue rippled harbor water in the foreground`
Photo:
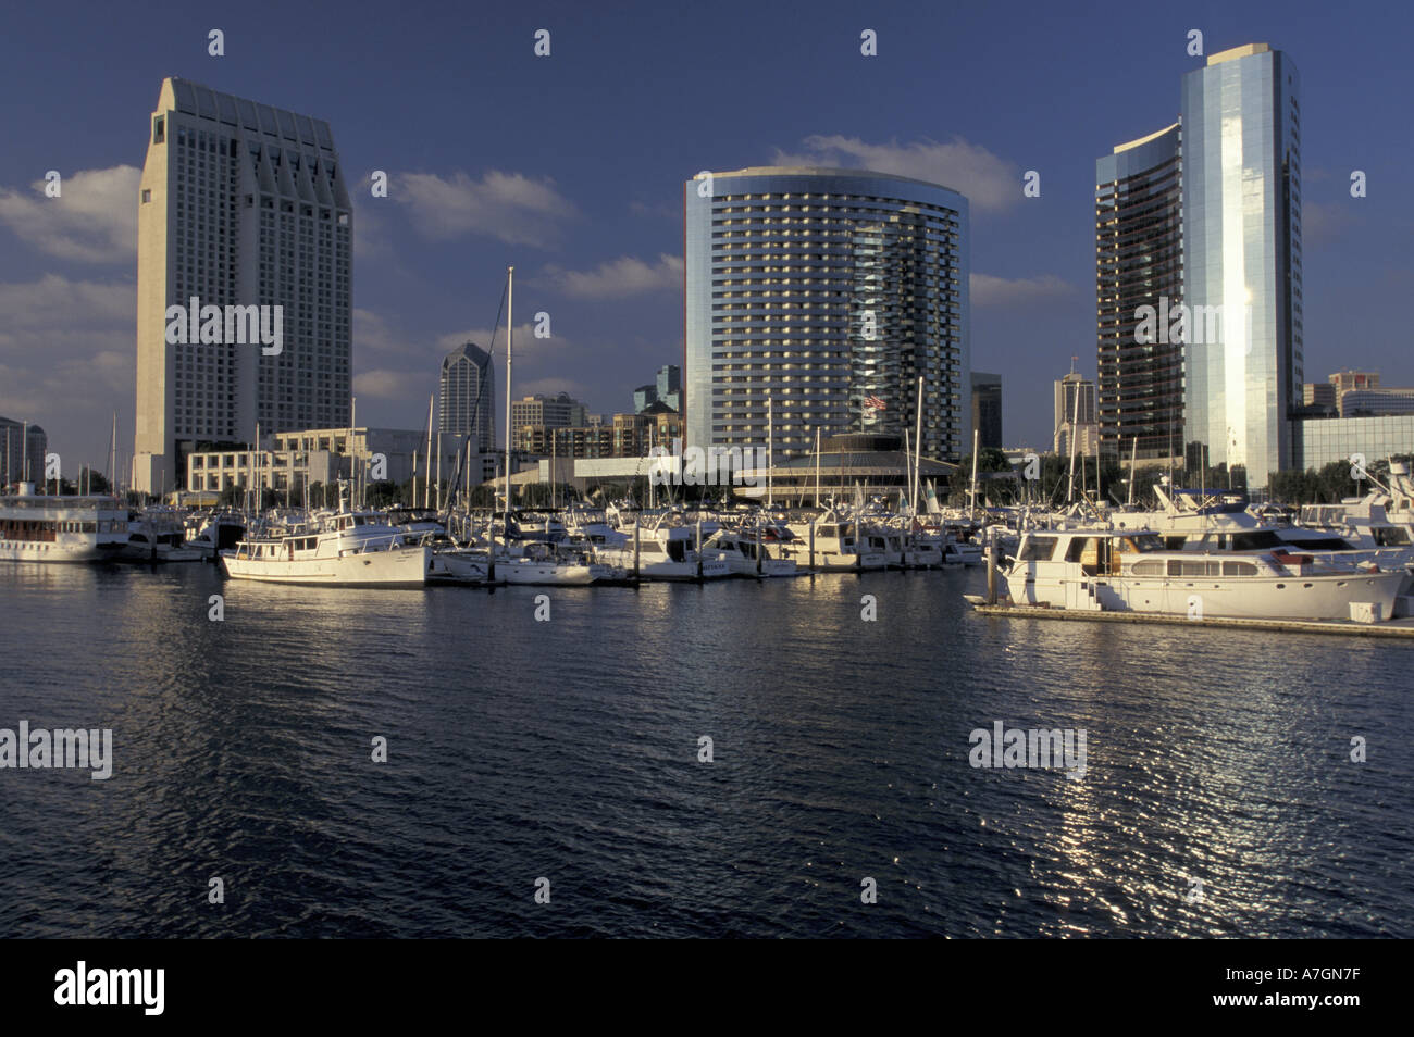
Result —
<path fill-rule="evenodd" d="M 0 935 L 1414 935 L 1414 646 L 987 619 L 980 579 L 6 564 L 0 728 L 112 728 L 115 771 L 0 770 Z M 1085 729 L 1085 778 L 973 769 L 994 721 Z"/>

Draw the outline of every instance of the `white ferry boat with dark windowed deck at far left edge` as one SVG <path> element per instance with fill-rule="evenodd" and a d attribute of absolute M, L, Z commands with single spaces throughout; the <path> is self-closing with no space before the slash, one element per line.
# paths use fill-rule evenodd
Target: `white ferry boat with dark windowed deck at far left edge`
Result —
<path fill-rule="evenodd" d="M 116 497 L 37 494 L 20 483 L 0 496 L 0 561 L 93 562 L 127 545 L 127 509 Z"/>

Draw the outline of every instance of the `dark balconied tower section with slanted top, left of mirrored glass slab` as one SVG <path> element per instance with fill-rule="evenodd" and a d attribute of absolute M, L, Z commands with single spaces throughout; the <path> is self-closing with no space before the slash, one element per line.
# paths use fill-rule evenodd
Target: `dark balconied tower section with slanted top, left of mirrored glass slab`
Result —
<path fill-rule="evenodd" d="M 1184 346 L 1167 333 L 1138 335 L 1135 316 L 1141 307 L 1167 314 L 1184 298 L 1179 127 L 1120 144 L 1094 164 L 1100 438 L 1124 456 L 1184 452 Z"/>

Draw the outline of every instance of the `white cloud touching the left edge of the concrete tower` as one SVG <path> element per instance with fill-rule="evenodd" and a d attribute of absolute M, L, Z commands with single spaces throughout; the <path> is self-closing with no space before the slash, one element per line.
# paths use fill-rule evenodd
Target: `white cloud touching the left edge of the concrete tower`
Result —
<path fill-rule="evenodd" d="M 45 196 L 42 179 L 23 189 L 0 188 L 0 223 L 49 256 L 130 261 L 137 254 L 140 178 L 136 167 L 115 165 L 64 177 L 58 198 Z"/>

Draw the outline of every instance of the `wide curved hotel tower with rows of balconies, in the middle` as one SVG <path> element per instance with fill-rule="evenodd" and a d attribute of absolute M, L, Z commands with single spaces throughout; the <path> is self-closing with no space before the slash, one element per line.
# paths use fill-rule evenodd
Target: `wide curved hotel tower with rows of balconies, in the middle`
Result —
<path fill-rule="evenodd" d="M 971 451 L 967 199 L 861 170 L 699 174 L 684 195 L 689 445 L 809 454 L 816 429 Z"/>

